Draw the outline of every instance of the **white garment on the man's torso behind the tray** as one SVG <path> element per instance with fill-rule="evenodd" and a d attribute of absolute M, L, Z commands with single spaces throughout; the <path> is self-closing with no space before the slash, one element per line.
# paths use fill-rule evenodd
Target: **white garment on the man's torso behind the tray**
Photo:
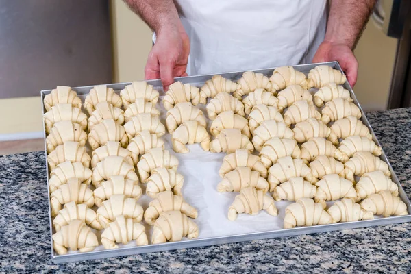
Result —
<path fill-rule="evenodd" d="M 190 38 L 188 75 L 311 62 L 327 0 L 177 0 Z"/>

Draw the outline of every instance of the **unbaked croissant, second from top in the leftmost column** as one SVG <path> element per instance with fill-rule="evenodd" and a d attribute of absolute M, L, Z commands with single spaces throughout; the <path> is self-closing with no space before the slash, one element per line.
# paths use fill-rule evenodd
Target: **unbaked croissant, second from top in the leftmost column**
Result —
<path fill-rule="evenodd" d="M 43 116 L 45 121 L 45 130 L 49 134 L 51 127 L 60 121 L 71 121 L 72 123 L 79 124 L 83 130 L 87 128 L 87 115 L 79 108 L 73 108 L 70 103 L 58 103 L 51 107 L 51 110 L 45 113 Z"/>

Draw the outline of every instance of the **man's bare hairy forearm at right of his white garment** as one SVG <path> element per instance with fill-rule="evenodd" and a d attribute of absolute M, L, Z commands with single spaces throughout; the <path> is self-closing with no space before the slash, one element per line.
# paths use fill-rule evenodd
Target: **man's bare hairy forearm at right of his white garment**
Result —
<path fill-rule="evenodd" d="M 324 41 L 354 49 L 374 4 L 375 0 L 331 0 Z"/>

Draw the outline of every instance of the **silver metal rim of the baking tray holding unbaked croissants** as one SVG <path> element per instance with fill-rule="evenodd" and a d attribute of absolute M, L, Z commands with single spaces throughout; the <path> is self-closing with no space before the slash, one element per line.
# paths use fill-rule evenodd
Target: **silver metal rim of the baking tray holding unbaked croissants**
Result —
<path fill-rule="evenodd" d="M 326 64 L 328 66 L 331 66 L 334 69 L 338 69 L 339 71 L 343 72 L 338 62 L 325 62 L 321 64 Z M 293 67 L 297 71 L 301 71 L 307 75 L 311 69 L 314 69 L 314 67 L 318 65 L 319 64 L 302 64 L 302 65 L 297 65 Z M 258 69 L 258 70 L 254 70 L 254 72 L 262 73 L 267 76 L 271 76 L 274 69 L 275 68 Z M 237 71 L 237 72 L 232 72 L 232 73 L 217 73 L 217 74 L 222 75 L 223 77 L 227 79 L 236 81 L 240 79 L 243 72 L 244 71 Z M 206 82 L 208 79 L 211 79 L 212 76 L 213 74 L 178 77 L 178 78 L 175 78 L 175 80 L 181 81 L 183 83 L 190 83 L 193 86 L 202 86 L 204 82 Z M 162 90 L 162 83 L 160 82 L 160 80 L 150 80 L 150 81 L 147 81 L 147 83 L 153 85 L 156 90 L 159 90 L 160 97 L 164 95 L 164 91 Z M 125 88 L 127 84 L 130 84 L 130 83 L 108 84 L 108 87 L 113 88 L 114 90 L 119 92 L 119 90 L 122 90 L 123 88 Z M 88 94 L 88 92 L 90 91 L 92 87 L 93 86 L 83 86 L 83 87 L 73 88 L 73 90 L 75 90 L 77 92 L 77 95 L 79 95 L 80 97 L 82 96 L 84 97 L 85 95 Z M 362 118 L 361 118 L 362 122 L 364 123 L 364 125 L 369 127 L 371 134 L 373 135 L 373 140 L 377 143 L 377 145 L 380 145 L 377 138 L 375 137 L 375 134 L 373 132 L 373 129 L 371 128 L 371 125 L 369 124 L 369 121 L 366 119 L 366 116 L 360 106 L 360 103 L 358 103 L 356 95 L 353 93 L 351 86 L 349 86 L 349 83 L 346 82 L 344 84 L 344 87 L 351 92 L 351 98 L 354 100 L 353 103 L 358 105 L 358 107 L 360 108 L 362 112 Z M 43 102 L 45 95 L 49 94 L 50 92 L 51 90 L 41 91 L 42 102 Z M 45 108 L 43 105 L 43 114 L 44 113 L 45 113 Z M 46 159 L 47 159 L 47 151 L 45 151 L 45 153 L 46 153 Z M 50 199 L 49 199 L 49 216 L 50 216 L 49 225 L 50 225 L 50 240 L 51 240 L 51 256 L 55 263 L 75 262 L 75 261 L 80 261 L 80 260 L 92 260 L 92 259 L 107 258 L 107 257 L 114 257 L 114 256 L 127 256 L 127 255 L 138 254 L 138 253 L 168 251 L 168 250 L 174 250 L 174 249 L 187 249 L 187 248 L 192 248 L 192 247 L 204 247 L 204 246 L 210 246 L 210 245 L 220 245 L 220 244 L 225 244 L 229 242 L 243 242 L 243 241 L 260 240 L 260 239 L 266 239 L 266 238 L 296 236 L 296 235 L 301 235 L 301 234 L 330 232 L 330 231 L 341 230 L 341 229 L 371 227 L 375 225 L 387 225 L 387 224 L 392 224 L 392 223 L 404 223 L 404 222 L 411 221 L 410 201 L 406 193 L 404 192 L 403 188 L 401 187 L 401 184 L 399 183 L 399 180 L 397 176 L 395 175 L 395 172 L 393 171 L 391 164 L 388 162 L 388 159 L 386 158 L 386 154 L 384 153 L 384 151 L 382 152 L 382 155 L 380 158 L 388 164 L 388 167 L 392 173 L 391 178 L 393 179 L 393 182 L 395 182 L 399 187 L 399 197 L 401 197 L 402 201 L 406 203 L 407 205 L 408 215 L 406 216 L 390 216 L 387 218 L 378 218 L 378 219 L 366 220 L 366 221 L 334 223 L 334 224 L 329 224 L 329 225 L 314 225 L 311 227 L 295 227 L 292 229 L 275 229 L 275 230 L 268 229 L 266 231 L 260 231 L 260 232 L 235 233 L 235 234 L 231 234 L 228 236 L 226 235 L 226 236 L 216 236 L 216 237 L 201 237 L 201 225 L 199 225 L 200 236 L 199 238 L 194 239 L 194 240 L 182 240 L 180 242 L 166 242 L 164 244 L 158 244 L 158 245 L 146 245 L 146 246 L 141 246 L 141 247 L 133 246 L 133 247 L 123 247 L 119 249 L 111 249 L 111 250 L 91 251 L 91 252 L 86 252 L 86 253 L 77 252 L 77 253 L 68 253 L 66 255 L 57 255 L 53 250 L 53 240 L 51 238 L 53 234 L 53 226 L 51 223 L 52 219 L 51 219 L 51 214 L 50 214 L 51 210 L 50 210 Z M 47 173 L 47 186 L 48 186 L 49 166 L 47 165 L 47 162 L 46 162 L 46 173 Z M 48 192 L 48 195 L 50 195 L 48 187 L 47 187 L 47 192 Z M 221 210 L 226 210 L 226 209 L 221 209 Z M 199 211 L 199 214 L 201 214 L 201 211 Z"/>

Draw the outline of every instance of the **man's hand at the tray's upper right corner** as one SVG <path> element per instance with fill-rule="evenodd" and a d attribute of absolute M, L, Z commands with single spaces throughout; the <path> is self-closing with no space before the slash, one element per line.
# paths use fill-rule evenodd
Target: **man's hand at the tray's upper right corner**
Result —
<path fill-rule="evenodd" d="M 358 62 L 353 51 L 343 43 L 334 44 L 332 42 L 322 42 L 319 49 L 316 51 L 313 63 L 338 61 L 341 68 L 347 75 L 347 79 L 351 87 L 357 82 Z"/>

